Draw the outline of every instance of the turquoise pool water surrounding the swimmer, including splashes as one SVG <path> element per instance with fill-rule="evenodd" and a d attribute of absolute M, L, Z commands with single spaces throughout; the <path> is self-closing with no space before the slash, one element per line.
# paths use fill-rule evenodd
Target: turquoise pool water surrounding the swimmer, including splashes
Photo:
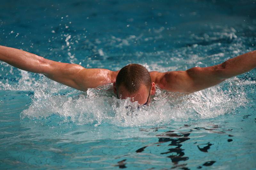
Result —
<path fill-rule="evenodd" d="M 255 1 L 1 1 L 0 45 L 87 68 L 219 64 L 255 50 Z M 255 169 L 256 69 L 126 109 L 0 62 L 0 169 Z"/>

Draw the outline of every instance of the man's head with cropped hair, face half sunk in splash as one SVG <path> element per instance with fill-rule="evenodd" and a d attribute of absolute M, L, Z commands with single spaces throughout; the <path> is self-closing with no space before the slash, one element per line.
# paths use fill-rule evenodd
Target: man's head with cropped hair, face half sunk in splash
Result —
<path fill-rule="evenodd" d="M 148 96 L 155 94 L 156 88 L 145 67 L 139 64 L 129 64 L 117 74 L 114 91 L 118 98 L 130 97 L 134 102 L 138 101 L 139 104 L 145 104 Z"/>

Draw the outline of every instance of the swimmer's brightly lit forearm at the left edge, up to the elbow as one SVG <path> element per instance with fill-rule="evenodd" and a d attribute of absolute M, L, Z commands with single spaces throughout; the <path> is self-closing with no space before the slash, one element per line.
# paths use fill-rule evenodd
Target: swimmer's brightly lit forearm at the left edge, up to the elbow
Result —
<path fill-rule="evenodd" d="M 48 65 L 43 57 L 6 46 L 0 46 L 0 60 L 25 71 L 42 74 L 44 66 Z"/>

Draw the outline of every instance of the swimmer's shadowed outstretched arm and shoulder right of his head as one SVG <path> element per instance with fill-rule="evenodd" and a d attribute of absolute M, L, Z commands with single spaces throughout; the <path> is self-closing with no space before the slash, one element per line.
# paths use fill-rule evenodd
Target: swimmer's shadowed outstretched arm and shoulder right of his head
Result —
<path fill-rule="evenodd" d="M 193 67 L 186 71 L 150 72 L 152 81 L 168 91 L 193 93 L 250 71 L 256 67 L 256 51 L 239 55 L 211 67 Z"/>

